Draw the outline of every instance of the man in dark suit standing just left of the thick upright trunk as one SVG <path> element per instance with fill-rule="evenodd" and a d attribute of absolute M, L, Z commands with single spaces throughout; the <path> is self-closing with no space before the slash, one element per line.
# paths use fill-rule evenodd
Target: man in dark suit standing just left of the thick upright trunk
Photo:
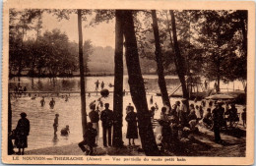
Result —
<path fill-rule="evenodd" d="M 105 103 L 105 109 L 100 114 L 100 120 L 102 121 L 103 128 L 103 145 L 107 147 L 106 144 L 106 132 L 108 135 L 108 145 L 111 146 L 111 129 L 113 125 L 113 111 L 109 110 L 109 104 Z"/>

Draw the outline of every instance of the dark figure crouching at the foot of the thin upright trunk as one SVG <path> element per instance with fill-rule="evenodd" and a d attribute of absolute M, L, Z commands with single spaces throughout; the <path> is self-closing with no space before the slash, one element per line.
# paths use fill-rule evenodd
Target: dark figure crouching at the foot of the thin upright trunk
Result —
<path fill-rule="evenodd" d="M 86 148 L 85 145 L 88 145 L 89 149 Z M 84 140 L 78 143 L 78 146 L 86 155 L 94 154 L 94 146 L 96 146 L 96 129 L 93 128 L 93 123 L 89 122 L 87 124 Z"/>

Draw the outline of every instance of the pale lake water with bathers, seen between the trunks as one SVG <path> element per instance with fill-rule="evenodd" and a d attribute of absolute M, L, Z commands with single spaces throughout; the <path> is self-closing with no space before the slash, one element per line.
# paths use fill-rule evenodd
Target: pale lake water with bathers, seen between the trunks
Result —
<path fill-rule="evenodd" d="M 166 77 L 166 84 L 168 92 L 171 92 L 178 84 L 179 81 L 176 77 Z M 105 88 L 109 91 L 113 90 L 113 87 L 109 87 L 109 83 L 114 83 L 113 77 L 88 77 L 86 86 L 88 91 L 95 90 L 96 81 L 100 83 L 103 81 L 105 83 Z M 156 94 L 159 92 L 158 85 L 158 77 L 157 76 L 144 76 L 144 80 L 146 83 L 147 91 L 151 94 Z M 70 78 L 70 79 L 61 79 L 57 78 L 54 81 L 50 79 L 31 79 L 31 78 L 21 78 L 20 84 L 22 86 L 27 86 L 28 91 L 79 91 L 80 90 L 80 82 L 79 78 Z M 18 85 L 18 79 L 12 79 L 9 82 L 11 91 L 14 89 L 15 85 Z M 210 83 L 211 85 L 211 83 Z M 235 85 L 237 85 L 235 83 Z M 240 84 L 241 85 L 241 84 Z M 242 86 L 242 85 L 241 85 Z M 126 91 L 129 90 L 128 78 L 124 77 L 124 88 Z M 180 89 L 181 90 L 181 89 Z M 40 106 L 41 95 L 45 96 L 45 105 L 44 107 Z M 81 125 L 81 99 L 79 93 L 72 93 L 69 96 L 69 100 L 66 102 L 64 98 L 57 97 L 55 93 L 52 94 L 40 94 L 40 96 L 36 96 L 34 100 L 31 97 L 22 96 L 22 97 L 14 97 L 11 98 L 12 110 L 13 110 L 13 118 L 12 118 L 12 128 L 15 129 L 18 120 L 20 119 L 20 113 L 26 112 L 28 114 L 28 119 L 31 121 L 31 133 L 29 136 L 29 148 L 28 149 L 36 149 L 41 147 L 48 146 L 58 146 L 58 145 L 66 145 L 70 143 L 77 143 L 83 139 L 82 137 L 82 125 Z M 54 109 L 49 108 L 49 101 L 51 97 L 54 97 L 56 104 Z M 91 94 L 91 96 L 87 96 L 87 106 L 90 102 L 96 100 L 99 95 L 95 93 Z M 148 103 L 150 103 L 151 95 L 147 95 Z M 179 98 L 171 98 L 170 102 L 173 104 Z M 113 108 L 113 94 L 110 93 L 108 97 L 103 98 L 102 101 L 104 103 L 108 102 L 110 104 L 110 109 Z M 157 102 L 161 107 L 161 99 L 160 96 L 154 95 L 154 102 Z M 131 96 L 124 96 L 124 109 L 123 109 L 123 133 L 126 133 L 127 123 L 125 121 L 125 107 L 128 103 L 132 103 Z M 149 108 L 152 105 L 148 105 Z M 87 107 L 87 112 L 89 112 L 89 107 Z M 58 113 L 59 116 L 59 128 L 57 137 L 53 135 L 53 121 L 55 114 Z M 160 117 L 160 111 L 156 113 L 156 118 Z M 89 120 L 89 119 L 88 119 Z M 64 128 L 66 125 L 70 126 L 71 133 L 69 137 L 61 137 L 60 130 Z M 99 124 L 101 127 L 101 124 Z M 101 129 L 101 128 L 99 128 Z M 102 137 L 101 130 L 99 131 L 99 138 Z M 125 138 L 124 141 L 126 142 Z"/>

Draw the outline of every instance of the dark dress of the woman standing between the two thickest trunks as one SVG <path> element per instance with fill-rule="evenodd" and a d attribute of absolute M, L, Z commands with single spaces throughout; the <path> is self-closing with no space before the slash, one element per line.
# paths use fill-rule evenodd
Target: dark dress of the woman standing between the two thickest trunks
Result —
<path fill-rule="evenodd" d="M 125 120 L 128 123 L 126 138 L 138 138 L 137 113 L 129 112 Z"/>

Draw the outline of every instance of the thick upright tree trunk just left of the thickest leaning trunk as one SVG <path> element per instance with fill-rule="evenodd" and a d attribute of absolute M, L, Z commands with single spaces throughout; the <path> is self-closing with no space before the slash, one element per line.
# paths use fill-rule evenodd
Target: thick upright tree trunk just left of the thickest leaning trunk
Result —
<path fill-rule="evenodd" d="M 123 123 L 123 22 L 122 11 L 115 11 L 115 52 L 114 52 L 114 125 L 113 146 L 121 147 Z"/>

